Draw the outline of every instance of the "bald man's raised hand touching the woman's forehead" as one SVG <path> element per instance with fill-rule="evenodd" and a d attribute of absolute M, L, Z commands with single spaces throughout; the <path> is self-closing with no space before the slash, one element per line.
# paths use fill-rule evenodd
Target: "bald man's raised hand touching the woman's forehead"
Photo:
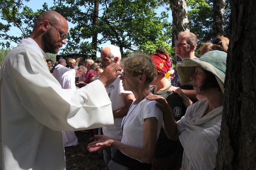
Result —
<path fill-rule="evenodd" d="M 105 87 L 109 86 L 116 80 L 118 75 L 122 74 L 121 71 L 122 68 L 118 63 L 111 63 L 104 69 L 98 80 L 100 80 Z"/>

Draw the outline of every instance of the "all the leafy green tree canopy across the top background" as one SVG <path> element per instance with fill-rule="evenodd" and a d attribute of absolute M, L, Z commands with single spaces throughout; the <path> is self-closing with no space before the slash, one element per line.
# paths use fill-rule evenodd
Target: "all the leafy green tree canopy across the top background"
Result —
<path fill-rule="evenodd" d="M 29 0 L 25 0 L 29 1 Z M 67 45 L 63 53 L 80 53 L 91 56 L 99 45 L 108 41 L 124 50 L 124 56 L 139 50 L 152 54 L 159 48 L 165 48 L 174 56 L 170 47 L 172 39 L 172 24 L 167 21 L 168 14 L 163 11 L 158 16 L 154 10 L 169 3 L 167 0 L 99 0 L 98 24 L 93 24 L 95 0 L 54 0 L 54 6 L 43 4 L 40 10 L 33 12 L 24 6 L 22 0 L 0 0 L 0 17 L 5 22 L 0 23 L 0 43 L 2 47 L 10 47 L 10 42 L 18 43 L 30 35 L 34 21 L 47 10 L 54 10 L 72 23 L 69 30 Z M 228 37 L 228 18 L 230 14 L 229 0 L 226 0 L 225 35 Z M 190 30 L 198 35 L 199 46 L 213 38 L 212 17 L 213 4 L 211 0 L 187 0 Z M 11 33 L 10 28 L 19 29 L 20 36 Z M 98 48 L 94 49 L 91 37 L 98 33 Z M 197 49 L 198 49 L 197 48 Z M 55 60 L 54 60 L 55 61 Z"/>

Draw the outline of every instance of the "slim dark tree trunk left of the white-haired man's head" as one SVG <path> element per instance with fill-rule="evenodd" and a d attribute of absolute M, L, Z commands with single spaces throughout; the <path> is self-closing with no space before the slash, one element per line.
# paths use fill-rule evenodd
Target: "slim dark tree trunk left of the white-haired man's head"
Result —
<path fill-rule="evenodd" d="M 93 15 L 93 28 L 94 28 L 94 35 L 92 38 L 92 46 L 93 50 L 93 55 L 91 59 L 96 60 L 97 58 L 97 39 L 98 39 L 98 31 L 97 31 L 97 24 L 98 24 L 98 16 L 99 16 L 99 0 L 94 1 L 94 15 Z"/>

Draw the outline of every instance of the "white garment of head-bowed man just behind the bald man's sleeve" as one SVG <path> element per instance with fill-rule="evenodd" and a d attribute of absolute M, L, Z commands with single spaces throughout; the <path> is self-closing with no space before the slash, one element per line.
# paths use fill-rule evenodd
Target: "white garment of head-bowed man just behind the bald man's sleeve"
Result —
<path fill-rule="evenodd" d="M 66 71 L 60 78 L 60 85 L 63 89 L 75 90 L 75 70 Z"/>

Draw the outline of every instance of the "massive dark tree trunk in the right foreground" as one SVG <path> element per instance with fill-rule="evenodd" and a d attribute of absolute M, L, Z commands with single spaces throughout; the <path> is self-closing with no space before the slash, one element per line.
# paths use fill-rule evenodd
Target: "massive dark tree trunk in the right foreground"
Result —
<path fill-rule="evenodd" d="M 230 0 L 221 134 L 216 168 L 256 169 L 256 1 Z"/>

